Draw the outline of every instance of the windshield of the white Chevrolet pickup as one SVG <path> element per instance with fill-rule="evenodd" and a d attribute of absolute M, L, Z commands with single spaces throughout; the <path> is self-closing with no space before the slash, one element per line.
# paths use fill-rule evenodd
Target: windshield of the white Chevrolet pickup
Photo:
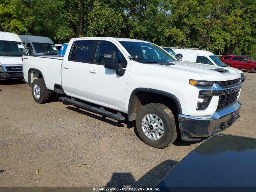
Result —
<path fill-rule="evenodd" d="M 130 41 L 121 41 L 120 43 L 131 56 L 138 54 L 140 56 L 138 62 L 140 63 L 176 61 L 172 56 L 162 50 L 162 48 L 152 43 Z"/>

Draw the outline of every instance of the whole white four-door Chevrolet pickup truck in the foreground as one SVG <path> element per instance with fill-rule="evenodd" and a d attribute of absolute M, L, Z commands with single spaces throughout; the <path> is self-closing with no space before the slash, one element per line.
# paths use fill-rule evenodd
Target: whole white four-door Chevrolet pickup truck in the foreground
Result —
<path fill-rule="evenodd" d="M 126 38 L 71 39 L 64 57 L 24 56 L 34 100 L 49 94 L 97 114 L 136 120 L 141 139 L 156 148 L 200 140 L 239 117 L 241 75 L 229 68 L 177 61 L 156 44 Z"/>

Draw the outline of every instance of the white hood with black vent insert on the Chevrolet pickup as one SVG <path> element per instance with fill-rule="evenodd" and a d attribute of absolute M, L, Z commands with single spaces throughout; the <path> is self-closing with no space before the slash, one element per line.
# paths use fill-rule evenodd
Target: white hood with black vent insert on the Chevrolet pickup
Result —
<path fill-rule="evenodd" d="M 168 68 L 175 68 L 179 70 L 186 70 L 187 72 L 200 74 L 203 80 L 206 80 L 206 81 L 213 81 L 213 80 L 227 81 L 227 80 L 238 79 L 241 77 L 241 75 L 238 72 L 226 67 L 219 67 L 214 65 L 202 65 L 194 62 L 182 62 L 182 61 L 174 61 L 174 62 L 168 62 L 168 63 L 170 63 L 170 65 L 162 65 L 162 66 L 168 67 Z M 161 64 L 157 64 L 157 65 L 161 65 Z M 221 72 L 215 71 L 218 69 L 228 70 L 229 72 L 221 73 Z"/>

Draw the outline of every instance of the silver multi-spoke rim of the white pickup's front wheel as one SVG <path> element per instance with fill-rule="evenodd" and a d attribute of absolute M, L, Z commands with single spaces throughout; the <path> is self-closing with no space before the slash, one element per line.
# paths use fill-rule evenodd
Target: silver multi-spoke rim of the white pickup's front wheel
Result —
<path fill-rule="evenodd" d="M 141 124 L 144 134 L 152 140 L 158 140 L 164 135 L 164 124 L 155 114 L 146 114 Z"/>

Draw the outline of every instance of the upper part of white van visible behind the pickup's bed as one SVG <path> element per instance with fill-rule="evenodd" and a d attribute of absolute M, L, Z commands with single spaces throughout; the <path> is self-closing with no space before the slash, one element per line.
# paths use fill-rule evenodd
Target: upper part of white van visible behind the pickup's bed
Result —
<path fill-rule="evenodd" d="M 52 55 L 58 56 L 59 52 L 54 42 L 48 37 L 34 35 L 20 35 L 20 39 L 26 46 L 28 53 L 34 56 Z"/>

